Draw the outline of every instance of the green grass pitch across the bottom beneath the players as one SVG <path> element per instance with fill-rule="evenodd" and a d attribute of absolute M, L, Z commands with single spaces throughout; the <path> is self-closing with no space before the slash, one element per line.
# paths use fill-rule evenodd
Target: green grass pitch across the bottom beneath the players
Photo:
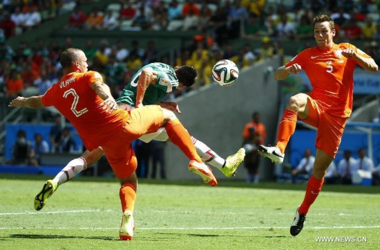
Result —
<path fill-rule="evenodd" d="M 289 234 L 305 185 L 140 180 L 135 235 L 118 240 L 115 179 L 79 177 L 41 211 L 43 176 L 0 175 L 0 249 L 379 249 L 380 187 L 324 186 Z M 324 240 L 325 242 L 321 242 Z"/>

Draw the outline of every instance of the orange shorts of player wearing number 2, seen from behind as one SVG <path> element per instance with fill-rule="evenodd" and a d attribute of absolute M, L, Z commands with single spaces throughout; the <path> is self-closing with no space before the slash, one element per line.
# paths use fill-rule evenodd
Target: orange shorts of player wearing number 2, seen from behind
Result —
<path fill-rule="evenodd" d="M 129 177 L 137 168 L 137 159 L 132 148 L 132 141 L 142 134 L 156 132 L 164 123 L 164 113 L 158 105 L 133 109 L 126 118 L 123 129 L 110 134 L 102 143 L 102 149 L 108 163 L 117 178 Z"/>

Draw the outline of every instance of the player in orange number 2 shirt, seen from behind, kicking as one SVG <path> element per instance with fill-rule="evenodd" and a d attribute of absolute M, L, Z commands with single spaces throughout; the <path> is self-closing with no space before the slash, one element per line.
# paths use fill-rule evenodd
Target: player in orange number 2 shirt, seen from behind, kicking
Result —
<path fill-rule="evenodd" d="M 142 134 L 156 132 L 160 127 L 164 127 L 169 139 L 191 160 L 189 168 L 193 166 L 192 172 L 200 175 L 211 186 L 216 186 L 217 181 L 196 153 L 189 133 L 173 111 L 158 105 L 141 104 L 132 111 L 117 109 L 117 104 L 102 76 L 96 71 L 88 71 L 86 61 L 83 51 L 77 48 L 66 49 L 60 57 L 64 69 L 61 80 L 44 95 L 17 97 L 10 102 L 9 107 L 35 109 L 54 106 L 70 120 L 88 150 L 102 147 L 115 176 L 122 184 L 120 200 L 123 217 L 120 239 L 131 240 L 137 190 L 137 160 L 131 142 Z M 39 200 L 44 201 L 53 191 L 53 184 L 47 181 L 37 196 L 41 196 Z M 37 208 L 39 205 L 35 204 Z"/>

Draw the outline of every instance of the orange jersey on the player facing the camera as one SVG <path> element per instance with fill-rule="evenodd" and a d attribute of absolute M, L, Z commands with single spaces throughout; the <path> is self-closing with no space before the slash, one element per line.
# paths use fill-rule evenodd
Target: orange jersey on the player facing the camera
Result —
<path fill-rule="evenodd" d="M 357 62 L 342 55 L 352 48 L 363 57 L 370 57 L 352 44 L 334 44 L 330 50 L 318 46 L 307 48 L 285 66 L 301 65 L 312 84 L 310 96 L 329 114 L 350 117 L 354 91 L 354 69 Z"/>

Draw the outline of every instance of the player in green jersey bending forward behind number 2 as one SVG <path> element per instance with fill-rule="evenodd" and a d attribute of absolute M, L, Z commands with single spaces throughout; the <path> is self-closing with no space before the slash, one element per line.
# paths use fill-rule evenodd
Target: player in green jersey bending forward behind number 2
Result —
<path fill-rule="evenodd" d="M 177 103 L 164 102 L 163 100 L 168 93 L 175 89 L 191 87 L 196 82 L 197 76 L 198 73 L 193 66 L 179 66 L 173 69 L 171 66 L 160 62 L 147 64 L 137 71 L 129 84 L 124 87 L 120 98 L 116 100 L 117 105 L 120 109 L 126 110 L 142 107 L 143 105 L 160 105 L 161 107 L 180 113 Z M 158 130 L 158 132 L 144 134 L 140 137 L 140 140 L 144 142 L 149 142 L 153 139 L 168 141 L 169 137 L 164 128 Z M 218 168 L 227 177 L 234 176 L 236 169 L 245 157 L 245 150 L 240 148 L 236 154 L 223 159 L 205 145 L 205 143 L 198 141 L 193 136 L 191 136 L 191 139 L 202 161 Z M 44 194 L 44 192 L 40 192 L 37 195 L 35 198 L 35 209 L 41 210 L 59 185 L 75 177 L 79 172 L 85 170 L 87 166 L 91 166 L 99 161 L 102 155 L 102 148 L 97 148 L 93 151 L 86 150 L 81 157 L 70 161 L 53 180 L 47 181 L 53 188 L 50 193 Z"/>

